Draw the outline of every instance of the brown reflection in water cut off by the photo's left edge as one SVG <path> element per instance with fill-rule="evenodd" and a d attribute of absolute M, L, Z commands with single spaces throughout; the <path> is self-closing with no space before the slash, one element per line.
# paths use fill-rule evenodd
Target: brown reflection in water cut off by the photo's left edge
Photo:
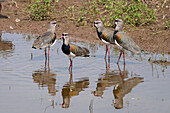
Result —
<path fill-rule="evenodd" d="M 0 55 L 2 55 L 3 58 L 7 58 L 12 56 L 11 53 L 13 53 L 15 46 L 12 43 L 12 41 L 6 41 L 2 40 L 2 33 L 0 32 Z"/>

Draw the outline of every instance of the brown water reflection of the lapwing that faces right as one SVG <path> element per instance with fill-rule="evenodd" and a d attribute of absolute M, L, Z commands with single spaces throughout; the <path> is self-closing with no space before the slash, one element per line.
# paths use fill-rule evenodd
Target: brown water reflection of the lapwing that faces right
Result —
<path fill-rule="evenodd" d="M 49 61 L 47 64 L 47 60 L 45 60 L 45 67 L 43 70 L 34 71 L 32 74 L 34 83 L 38 83 L 39 88 L 47 87 L 48 93 L 54 98 L 56 92 L 58 92 L 55 88 L 56 84 L 56 74 L 50 72 Z M 54 108 L 54 99 L 52 101 L 52 106 Z M 46 109 L 50 106 L 47 106 Z M 45 109 L 45 110 L 46 110 Z"/>

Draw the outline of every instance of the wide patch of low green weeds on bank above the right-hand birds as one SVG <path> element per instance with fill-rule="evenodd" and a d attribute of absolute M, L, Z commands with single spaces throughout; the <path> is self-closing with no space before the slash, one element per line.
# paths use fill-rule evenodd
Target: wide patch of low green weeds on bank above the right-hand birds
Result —
<path fill-rule="evenodd" d="M 100 18 L 106 26 L 112 26 L 117 18 L 132 26 L 150 24 L 156 20 L 154 11 L 140 0 L 89 0 L 78 8 L 68 7 L 65 14 L 77 23 L 93 22 Z"/>

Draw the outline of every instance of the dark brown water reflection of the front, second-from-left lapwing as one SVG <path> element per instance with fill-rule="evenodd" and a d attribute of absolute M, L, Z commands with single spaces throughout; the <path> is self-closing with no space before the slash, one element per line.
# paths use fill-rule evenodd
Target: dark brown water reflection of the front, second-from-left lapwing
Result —
<path fill-rule="evenodd" d="M 79 81 L 73 81 L 73 73 L 70 72 L 70 80 L 62 89 L 63 103 L 62 108 L 69 108 L 72 96 L 78 96 L 81 91 L 89 86 L 89 78 L 81 78 Z"/>

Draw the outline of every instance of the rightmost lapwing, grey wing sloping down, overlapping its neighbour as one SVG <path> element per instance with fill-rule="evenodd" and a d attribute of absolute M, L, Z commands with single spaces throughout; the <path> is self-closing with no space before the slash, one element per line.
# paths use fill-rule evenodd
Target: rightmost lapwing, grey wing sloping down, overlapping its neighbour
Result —
<path fill-rule="evenodd" d="M 128 36 L 124 31 L 123 31 L 123 20 L 122 19 L 116 19 L 115 20 L 115 31 L 114 31 L 114 36 L 113 39 L 115 40 L 115 44 L 118 45 L 121 50 L 120 50 L 120 55 L 117 61 L 117 64 L 119 63 L 119 59 L 123 53 L 123 59 L 124 59 L 124 64 L 125 64 L 125 54 L 124 54 L 124 49 L 128 50 L 132 53 L 132 56 L 134 54 L 140 54 L 141 57 L 141 48 Z"/>

